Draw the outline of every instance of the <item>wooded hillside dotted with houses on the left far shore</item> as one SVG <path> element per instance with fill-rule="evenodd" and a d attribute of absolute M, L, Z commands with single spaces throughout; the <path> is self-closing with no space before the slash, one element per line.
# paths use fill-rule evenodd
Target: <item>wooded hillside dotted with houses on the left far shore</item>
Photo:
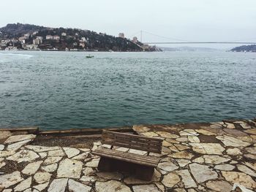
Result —
<path fill-rule="evenodd" d="M 78 28 L 7 24 L 0 28 L 1 49 L 142 51 L 140 42 Z"/>

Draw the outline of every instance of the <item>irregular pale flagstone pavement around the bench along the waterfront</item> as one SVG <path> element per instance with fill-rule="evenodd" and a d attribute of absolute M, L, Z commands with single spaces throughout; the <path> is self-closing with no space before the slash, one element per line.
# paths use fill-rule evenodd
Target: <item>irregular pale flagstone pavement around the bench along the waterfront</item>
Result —
<path fill-rule="evenodd" d="M 0 191 L 231 191 L 238 183 L 256 189 L 255 120 L 134 126 L 146 137 L 164 139 L 151 182 L 118 172 L 98 172 L 91 148 L 33 145 L 34 134 L 0 131 Z M 128 151 L 124 147 L 116 150 Z M 145 155 L 139 150 L 129 153 Z"/>

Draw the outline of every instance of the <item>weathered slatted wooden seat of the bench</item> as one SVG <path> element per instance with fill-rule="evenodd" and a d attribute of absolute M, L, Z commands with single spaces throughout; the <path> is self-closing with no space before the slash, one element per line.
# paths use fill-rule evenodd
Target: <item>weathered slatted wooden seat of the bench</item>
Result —
<path fill-rule="evenodd" d="M 93 152 L 94 155 L 100 155 L 100 156 L 105 156 L 108 158 L 116 158 L 118 160 L 121 161 L 127 161 L 127 162 L 132 162 L 135 164 L 144 164 L 144 165 L 148 165 L 148 166 L 157 166 L 157 164 L 159 163 L 158 161 L 148 161 L 148 159 L 143 158 L 145 156 L 141 155 L 140 158 L 135 157 L 134 154 L 132 153 L 109 153 L 108 150 L 95 150 Z M 153 159 L 152 159 L 153 160 Z"/>

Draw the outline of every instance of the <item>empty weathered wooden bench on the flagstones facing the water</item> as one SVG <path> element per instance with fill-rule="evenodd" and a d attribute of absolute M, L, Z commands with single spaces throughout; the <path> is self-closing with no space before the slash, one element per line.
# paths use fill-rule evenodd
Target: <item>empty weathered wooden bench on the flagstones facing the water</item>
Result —
<path fill-rule="evenodd" d="M 102 144 L 109 148 L 99 147 L 92 154 L 99 155 L 98 169 L 103 172 L 124 171 L 135 173 L 141 180 L 151 180 L 154 168 L 160 158 L 148 156 L 149 153 L 161 153 L 162 139 L 143 137 L 135 134 L 123 134 L 114 131 L 102 131 Z M 143 150 L 145 155 L 113 150 L 113 146 Z"/>

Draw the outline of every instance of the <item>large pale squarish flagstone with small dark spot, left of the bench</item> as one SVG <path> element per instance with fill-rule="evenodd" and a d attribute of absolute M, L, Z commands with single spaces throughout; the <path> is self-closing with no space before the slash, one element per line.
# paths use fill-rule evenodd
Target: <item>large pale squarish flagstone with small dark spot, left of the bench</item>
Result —
<path fill-rule="evenodd" d="M 69 177 L 69 178 L 80 178 L 80 174 L 83 169 L 83 163 L 81 161 L 64 159 L 59 163 L 57 170 L 57 177 Z"/>

